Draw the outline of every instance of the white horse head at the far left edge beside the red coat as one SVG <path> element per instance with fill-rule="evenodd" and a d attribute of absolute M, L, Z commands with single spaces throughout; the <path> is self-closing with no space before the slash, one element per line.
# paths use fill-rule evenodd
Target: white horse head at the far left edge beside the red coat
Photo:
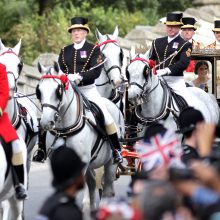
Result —
<path fill-rule="evenodd" d="M 5 47 L 0 40 L 0 63 L 6 66 L 8 75 L 9 88 L 11 91 L 16 90 L 16 82 L 23 68 L 23 63 L 19 58 L 21 40 L 13 48 Z"/>

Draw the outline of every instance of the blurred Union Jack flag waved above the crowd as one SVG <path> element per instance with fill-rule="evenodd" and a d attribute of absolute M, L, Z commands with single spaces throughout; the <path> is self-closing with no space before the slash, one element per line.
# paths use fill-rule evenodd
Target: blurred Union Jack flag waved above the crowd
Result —
<path fill-rule="evenodd" d="M 169 166 L 171 162 L 180 162 L 182 152 L 181 142 L 172 130 L 137 143 L 135 149 L 146 171 L 159 166 Z"/>

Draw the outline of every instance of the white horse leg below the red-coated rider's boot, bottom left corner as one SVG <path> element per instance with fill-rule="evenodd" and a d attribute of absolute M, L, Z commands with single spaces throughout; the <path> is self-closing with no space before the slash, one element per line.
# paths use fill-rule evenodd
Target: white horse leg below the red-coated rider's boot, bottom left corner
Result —
<path fill-rule="evenodd" d="M 22 220 L 23 201 L 19 201 L 12 196 L 8 199 L 10 212 L 8 220 Z"/>

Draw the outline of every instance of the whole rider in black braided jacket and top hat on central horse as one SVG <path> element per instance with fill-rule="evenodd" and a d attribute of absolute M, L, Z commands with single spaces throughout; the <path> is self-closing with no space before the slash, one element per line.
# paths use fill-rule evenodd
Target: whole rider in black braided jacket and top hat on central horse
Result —
<path fill-rule="evenodd" d="M 101 74 L 103 65 L 99 64 L 102 62 L 102 56 L 99 47 L 86 40 L 90 32 L 87 22 L 88 19 L 83 17 L 71 19 L 68 32 L 73 44 L 61 49 L 58 62 L 61 70 L 68 74 L 70 81 L 75 81 L 82 94 L 101 108 L 105 117 L 105 129 L 114 148 L 114 162 L 118 163 L 122 162 L 122 156 L 117 128 L 94 84 L 95 79 Z"/>

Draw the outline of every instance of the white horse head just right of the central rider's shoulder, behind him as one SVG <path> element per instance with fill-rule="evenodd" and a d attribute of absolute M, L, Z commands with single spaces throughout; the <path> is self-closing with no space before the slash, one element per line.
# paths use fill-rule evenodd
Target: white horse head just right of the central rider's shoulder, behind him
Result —
<path fill-rule="evenodd" d="M 104 57 L 107 59 L 104 63 L 104 70 L 110 82 L 114 87 L 121 84 L 123 76 L 121 67 L 123 63 L 123 51 L 118 44 L 118 27 L 115 27 L 113 34 L 101 34 L 96 29 L 96 38 L 99 42 L 98 46 Z"/>

